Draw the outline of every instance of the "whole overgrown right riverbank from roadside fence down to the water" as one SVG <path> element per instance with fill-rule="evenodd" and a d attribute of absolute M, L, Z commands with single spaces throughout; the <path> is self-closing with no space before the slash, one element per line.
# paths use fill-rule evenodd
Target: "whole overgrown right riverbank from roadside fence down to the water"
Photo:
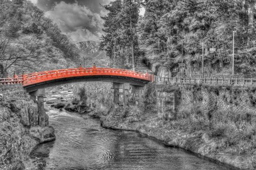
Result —
<path fill-rule="evenodd" d="M 254 106 L 246 104 L 247 99 L 254 100 L 253 89 L 174 88 L 164 86 L 158 89 L 158 94 L 165 95 L 166 104 L 171 105 L 168 95 L 172 96 L 175 90 L 178 92 L 180 102 L 176 115 L 159 115 L 154 108 L 155 102 L 145 103 L 144 107 L 130 103 L 127 109 L 123 109 L 122 106 L 114 108 L 109 103 L 100 104 L 102 98 L 98 100 L 98 96 L 88 95 L 89 100 L 98 103 L 96 110 L 89 115 L 100 117 L 106 128 L 138 131 L 168 146 L 188 150 L 230 167 L 256 168 L 254 113 L 251 111 Z M 102 92 L 106 96 L 108 93 L 111 92 Z M 246 111 L 242 111 L 243 108 Z"/>

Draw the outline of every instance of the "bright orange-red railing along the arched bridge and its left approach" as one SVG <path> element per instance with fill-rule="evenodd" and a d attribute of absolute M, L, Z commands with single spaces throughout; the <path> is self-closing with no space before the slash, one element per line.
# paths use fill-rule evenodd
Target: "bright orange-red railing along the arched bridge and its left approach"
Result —
<path fill-rule="evenodd" d="M 0 84 L 17 84 L 22 83 L 23 86 L 29 86 L 49 80 L 57 80 L 62 78 L 79 77 L 79 76 L 123 76 L 129 78 L 137 78 L 140 80 L 154 81 L 154 75 L 132 70 L 124 70 L 117 68 L 68 68 L 60 70 L 48 70 L 42 72 L 33 72 L 23 74 L 17 78 L 2 78 Z"/>

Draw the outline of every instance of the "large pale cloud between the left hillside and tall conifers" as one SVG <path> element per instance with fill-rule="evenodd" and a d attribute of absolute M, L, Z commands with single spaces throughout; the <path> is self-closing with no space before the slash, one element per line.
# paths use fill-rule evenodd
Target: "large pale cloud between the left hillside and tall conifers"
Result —
<path fill-rule="evenodd" d="M 62 1 L 46 12 L 46 16 L 50 16 L 60 30 L 75 42 L 98 41 L 103 23 L 100 14 L 79 6 L 77 2 L 67 4 Z"/>

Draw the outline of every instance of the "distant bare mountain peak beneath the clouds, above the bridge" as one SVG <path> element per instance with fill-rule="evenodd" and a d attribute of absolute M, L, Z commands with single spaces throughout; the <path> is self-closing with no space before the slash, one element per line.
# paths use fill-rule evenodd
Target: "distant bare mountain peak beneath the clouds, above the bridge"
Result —
<path fill-rule="evenodd" d="M 91 67 L 96 63 L 98 67 L 108 66 L 108 57 L 104 51 L 99 50 L 99 43 L 96 41 L 83 41 L 74 44 L 76 50 L 80 55 L 80 63 L 84 63 L 85 67 Z"/>

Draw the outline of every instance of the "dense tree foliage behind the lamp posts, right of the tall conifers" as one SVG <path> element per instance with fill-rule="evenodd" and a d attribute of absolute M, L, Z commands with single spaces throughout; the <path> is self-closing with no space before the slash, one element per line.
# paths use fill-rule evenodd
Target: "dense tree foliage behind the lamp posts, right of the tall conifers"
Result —
<path fill-rule="evenodd" d="M 219 63 L 231 66 L 232 31 L 236 37 L 236 71 L 255 72 L 254 25 L 248 25 L 242 0 L 148 0 L 146 13 L 138 23 L 140 48 L 153 63 L 174 68 L 181 59 L 200 63 L 204 47 L 214 47 L 216 53 L 206 57 L 208 66 Z"/>

